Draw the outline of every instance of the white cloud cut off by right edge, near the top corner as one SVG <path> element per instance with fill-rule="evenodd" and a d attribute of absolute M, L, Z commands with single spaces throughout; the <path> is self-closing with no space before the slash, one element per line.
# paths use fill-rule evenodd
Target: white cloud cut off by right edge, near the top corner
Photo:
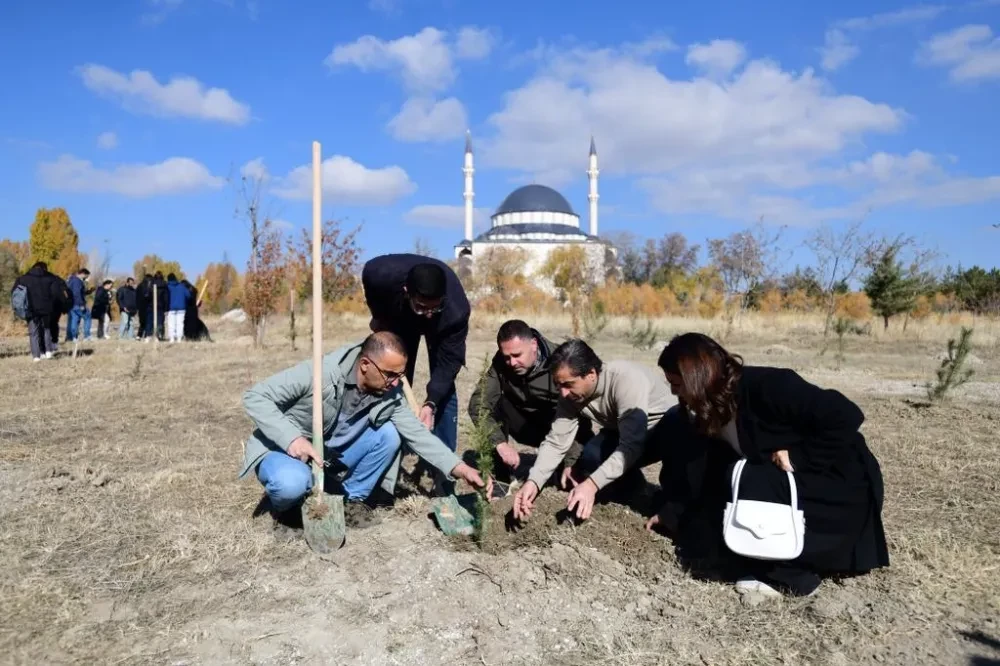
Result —
<path fill-rule="evenodd" d="M 964 25 L 931 37 L 917 59 L 949 67 L 956 82 L 1000 78 L 1000 38 L 988 25 Z"/>

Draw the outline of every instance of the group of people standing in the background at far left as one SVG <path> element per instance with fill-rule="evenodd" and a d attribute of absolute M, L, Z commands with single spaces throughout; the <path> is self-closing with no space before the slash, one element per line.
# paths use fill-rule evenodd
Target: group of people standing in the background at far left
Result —
<path fill-rule="evenodd" d="M 196 287 L 187 280 L 178 280 L 173 273 L 166 278 L 160 271 L 146 274 L 138 284 L 129 277 L 118 287 L 114 280 L 105 279 L 95 289 L 90 286 L 90 271 L 86 268 L 63 280 L 51 273 L 45 262 L 37 262 L 17 279 L 12 294 L 18 287 L 23 287 L 27 297 L 25 319 L 31 356 L 36 362 L 56 354 L 63 315 L 67 317 L 67 342 L 89 341 L 94 321 L 96 338 L 109 340 L 113 305 L 117 305 L 120 340 L 149 342 L 154 335 L 171 343 L 210 339 L 198 314 L 201 304 Z"/>

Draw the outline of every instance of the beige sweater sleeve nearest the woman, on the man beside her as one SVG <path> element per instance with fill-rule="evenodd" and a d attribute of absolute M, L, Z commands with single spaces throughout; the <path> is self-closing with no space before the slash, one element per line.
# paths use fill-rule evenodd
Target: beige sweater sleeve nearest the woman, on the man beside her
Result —
<path fill-rule="evenodd" d="M 624 381 L 623 381 L 624 380 Z M 590 475 L 598 489 L 608 485 L 642 456 L 649 426 L 649 392 L 645 375 L 619 377 L 611 387 L 618 406 L 618 448 Z"/>

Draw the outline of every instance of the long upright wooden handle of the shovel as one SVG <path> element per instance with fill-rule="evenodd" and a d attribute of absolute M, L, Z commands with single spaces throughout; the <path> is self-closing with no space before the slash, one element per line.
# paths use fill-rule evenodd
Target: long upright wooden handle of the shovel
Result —
<path fill-rule="evenodd" d="M 313 450 L 324 460 L 323 451 L 323 230 L 320 222 L 323 163 L 319 141 L 313 141 Z M 323 497 L 323 466 L 314 464 L 313 489 Z"/>

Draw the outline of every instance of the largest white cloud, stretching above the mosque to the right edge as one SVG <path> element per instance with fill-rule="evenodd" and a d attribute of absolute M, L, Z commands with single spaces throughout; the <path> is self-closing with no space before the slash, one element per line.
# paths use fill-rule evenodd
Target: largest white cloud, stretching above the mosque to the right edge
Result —
<path fill-rule="evenodd" d="M 515 179 L 579 182 L 593 133 L 602 175 L 636 177 L 666 213 L 809 224 L 868 207 L 998 196 L 996 179 L 958 178 L 944 156 L 852 159 L 870 138 L 899 132 L 908 115 L 837 92 L 808 69 L 751 60 L 723 83 L 671 78 L 624 49 L 551 53 L 504 95 L 487 121 L 492 135 L 478 141 L 477 157 Z"/>

